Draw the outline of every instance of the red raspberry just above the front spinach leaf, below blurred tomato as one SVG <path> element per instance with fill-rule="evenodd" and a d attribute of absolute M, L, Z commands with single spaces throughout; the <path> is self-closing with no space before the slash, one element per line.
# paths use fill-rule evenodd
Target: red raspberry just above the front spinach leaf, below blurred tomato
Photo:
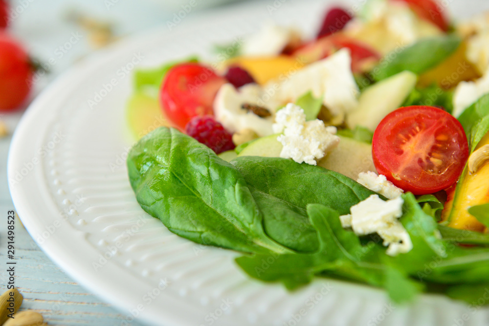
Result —
<path fill-rule="evenodd" d="M 185 133 L 216 154 L 234 149 L 233 136 L 210 115 L 196 116 L 185 126 Z"/>

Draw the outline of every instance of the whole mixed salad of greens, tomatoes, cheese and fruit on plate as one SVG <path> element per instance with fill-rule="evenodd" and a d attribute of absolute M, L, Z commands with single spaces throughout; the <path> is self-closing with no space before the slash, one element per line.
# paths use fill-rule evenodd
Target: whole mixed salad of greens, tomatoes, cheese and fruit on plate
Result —
<path fill-rule="evenodd" d="M 223 58 L 139 70 L 127 159 L 140 206 L 242 253 L 254 279 L 385 288 L 398 303 L 489 286 L 489 15 L 435 0 L 268 24 Z"/>

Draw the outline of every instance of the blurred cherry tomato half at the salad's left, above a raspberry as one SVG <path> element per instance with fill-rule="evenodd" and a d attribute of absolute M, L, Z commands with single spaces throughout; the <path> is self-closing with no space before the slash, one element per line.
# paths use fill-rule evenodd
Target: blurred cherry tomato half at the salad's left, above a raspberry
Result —
<path fill-rule="evenodd" d="M 200 64 L 186 63 L 171 68 L 160 89 L 165 116 L 180 130 L 195 116 L 214 115 L 216 93 L 226 80 Z"/>

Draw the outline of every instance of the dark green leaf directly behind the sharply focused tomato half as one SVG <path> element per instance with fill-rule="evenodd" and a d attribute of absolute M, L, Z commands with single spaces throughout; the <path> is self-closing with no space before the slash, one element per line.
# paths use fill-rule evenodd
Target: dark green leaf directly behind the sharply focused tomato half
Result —
<path fill-rule="evenodd" d="M 444 90 L 437 85 L 425 88 L 416 87 L 411 91 L 411 94 L 409 94 L 401 107 L 412 105 L 442 107 L 451 113 L 453 111 L 453 90 Z"/>

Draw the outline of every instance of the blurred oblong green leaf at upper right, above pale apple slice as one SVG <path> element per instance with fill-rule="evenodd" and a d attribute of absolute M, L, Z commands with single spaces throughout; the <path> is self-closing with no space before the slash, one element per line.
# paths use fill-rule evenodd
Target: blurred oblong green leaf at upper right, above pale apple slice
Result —
<path fill-rule="evenodd" d="M 404 70 L 418 75 L 441 64 L 461 43 L 456 35 L 425 38 L 402 50 L 387 54 L 371 71 L 374 80 L 380 81 Z"/>

